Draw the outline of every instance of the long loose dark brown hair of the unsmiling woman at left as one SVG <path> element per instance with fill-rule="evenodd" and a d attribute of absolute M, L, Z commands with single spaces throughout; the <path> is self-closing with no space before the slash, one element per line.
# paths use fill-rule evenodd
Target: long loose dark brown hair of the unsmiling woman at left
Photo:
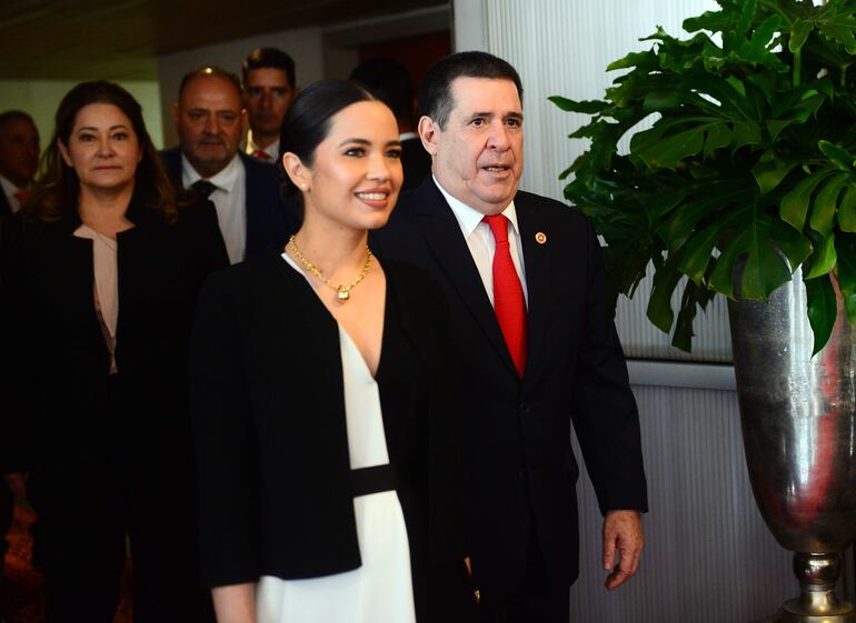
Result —
<path fill-rule="evenodd" d="M 41 173 L 26 205 L 24 214 L 40 221 L 56 221 L 64 210 L 77 209 L 80 194 L 80 179 L 74 169 L 66 164 L 57 141 L 69 144 L 78 113 L 89 104 L 112 104 L 130 120 L 142 159 L 137 165 L 136 189 L 143 189 L 147 207 L 163 217 L 167 222 L 176 220 L 176 191 L 160 162 L 158 150 L 151 142 L 142 120 L 142 108 L 128 91 L 113 82 L 96 80 L 81 82 L 71 89 L 57 109 L 56 128 L 41 158 Z"/>

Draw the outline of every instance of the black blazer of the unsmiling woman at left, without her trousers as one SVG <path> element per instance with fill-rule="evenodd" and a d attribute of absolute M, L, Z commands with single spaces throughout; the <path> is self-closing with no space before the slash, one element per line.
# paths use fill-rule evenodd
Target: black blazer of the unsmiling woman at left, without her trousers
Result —
<path fill-rule="evenodd" d="M 50 223 L 24 223 L 20 213 L 6 223 L 0 462 L 7 470 L 82 481 L 99 469 L 98 449 L 113 433 L 140 470 L 173 460 L 192 468 L 190 324 L 202 281 L 228 265 L 228 257 L 210 202 L 179 208 L 168 225 L 140 194 L 127 212 L 136 227 L 118 235 L 120 384 L 109 379 L 93 301 L 92 242 L 73 235 L 77 210 Z M 120 419 L 110 404 L 119 405 Z M 10 430 L 18 432 L 7 435 Z"/>

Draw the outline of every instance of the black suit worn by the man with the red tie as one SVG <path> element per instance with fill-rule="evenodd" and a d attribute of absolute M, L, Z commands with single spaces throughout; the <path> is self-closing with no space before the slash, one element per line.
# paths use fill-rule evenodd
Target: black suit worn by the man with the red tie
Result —
<path fill-rule="evenodd" d="M 597 237 L 557 201 L 515 197 L 528 290 L 519 379 L 458 221 L 429 178 L 404 195 L 372 247 L 428 270 L 450 305 L 465 418 L 468 531 L 476 582 L 519 586 L 532 534 L 548 581 L 578 574 L 577 433 L 603 512 L 647 509 L 636 403 L 606 307 Z M 536 233 L 546 235 L 539 244 Z"/>

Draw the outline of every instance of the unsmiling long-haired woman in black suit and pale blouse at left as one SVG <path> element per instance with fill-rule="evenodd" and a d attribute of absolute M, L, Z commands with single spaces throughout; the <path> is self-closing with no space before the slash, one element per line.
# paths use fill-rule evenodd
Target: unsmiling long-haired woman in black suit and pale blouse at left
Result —
<path fill-rule="evenodd" d="M 197 621 L 186 369 L 200 284 L 228 265 L 217 217 L 177 200 L 119 86 L 78 84 L 56 122 L 0 254 L 0 430 L 27 424 L 0 450 L 30 471 L 47 621 L 112 621 L 126 535 L 135 621 Z"/>

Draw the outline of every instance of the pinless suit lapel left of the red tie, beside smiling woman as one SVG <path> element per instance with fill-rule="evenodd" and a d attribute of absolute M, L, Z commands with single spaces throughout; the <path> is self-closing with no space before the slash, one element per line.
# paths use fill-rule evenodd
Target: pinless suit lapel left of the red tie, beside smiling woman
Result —
<path fill-rule="evenodd" d="M 417 200 L 419 229 L 426 237 L 437 262 L 467 309 L 475 316 L 497 355 L 517 376 L 517 369 L 508 352 L 505 338 L 502 338 L 496 313 L 494 313 L 494 308 L 490 305 L 487 292 L 485 292 L 485 284 L 478 274 L 478 269 L 472 261 L 467 241 L 464 240 L 460 225 L 451 208 L 430 178 L 416 192 L 422 194 L 425 199 L 425 201 Z"/>

